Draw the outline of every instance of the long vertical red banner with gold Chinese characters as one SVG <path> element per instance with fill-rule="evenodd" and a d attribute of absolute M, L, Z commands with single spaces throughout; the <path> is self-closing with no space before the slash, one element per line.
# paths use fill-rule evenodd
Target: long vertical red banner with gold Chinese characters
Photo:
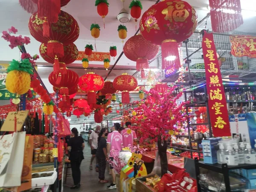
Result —
<path fill-rule="evenodd" d="M 231 136 L 227 102 L 212 33 L 204 31 L 202 48 L 212 133 L 215 137 Z"/>

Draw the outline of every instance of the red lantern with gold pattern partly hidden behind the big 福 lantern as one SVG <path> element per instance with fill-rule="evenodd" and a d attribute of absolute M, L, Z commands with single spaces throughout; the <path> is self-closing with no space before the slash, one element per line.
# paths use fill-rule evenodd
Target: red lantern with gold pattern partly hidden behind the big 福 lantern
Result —
<path fill-rule="evenodd" d="M 125 56 L 136 61 L 137 70 L 148 69 L 148 60 L 154 58 L 158 52 L 159 46 L 145 40 L 141 34 L 129 38 L 124 46 Z"/>

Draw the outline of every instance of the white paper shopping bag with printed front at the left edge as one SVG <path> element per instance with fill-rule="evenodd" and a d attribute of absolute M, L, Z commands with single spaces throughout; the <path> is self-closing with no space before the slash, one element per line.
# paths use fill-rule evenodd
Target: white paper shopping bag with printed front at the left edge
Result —
<path fill-rule="evenodd" d="M 21 185 L 26 132 L 14 132 L 12 137 L 15 138 L 13 140 L 12 151 L 9 151 L 11 156 L 8 158 L 9 160 L 6 163 L 6 166 L 1 169 L 2 171 L 0 172 L 0 187 L 10 188 Z M 10 139 L 10 136 L 8 139 L 12 140 Z M 0 143 L 0 148 L 2 148 L 6 142 L 8 142 L 8 140 L 2 141 Z"/>

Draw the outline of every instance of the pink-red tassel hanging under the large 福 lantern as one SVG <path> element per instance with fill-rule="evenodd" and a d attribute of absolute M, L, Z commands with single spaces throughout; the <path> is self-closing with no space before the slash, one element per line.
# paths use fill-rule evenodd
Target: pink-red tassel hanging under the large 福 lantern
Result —
<path fill-rule="evenodd" d="M 174 39 L 167 39 L 162 42 L 162 69 L 175 67 L 180 68 L 180 56 L 177 41 Z"/>

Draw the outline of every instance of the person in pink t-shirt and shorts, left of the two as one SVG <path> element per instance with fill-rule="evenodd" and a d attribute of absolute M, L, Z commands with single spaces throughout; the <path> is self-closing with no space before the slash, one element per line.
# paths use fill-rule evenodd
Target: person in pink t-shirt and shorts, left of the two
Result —
<path fill-rule="evenodd" d="M 108 134 L 108 139 L 107 139 L 107 152 L 109 154 L 109 160 L 113 161 L 113 151 L 119 157 L 119 151 L 122 150 L 122 135 L 119 134 L 118 130 L 120 128 L 119 123 L 115 123 L 113 126 L 113 132 Z M 116 189 L 116 173 L 113 170 L 113 166 L 110 166 L 111 169 L 111 174 L 113 178 L 113 182 L 111 183 L 110 186 L 108 186 L 108 189 Z"/>

